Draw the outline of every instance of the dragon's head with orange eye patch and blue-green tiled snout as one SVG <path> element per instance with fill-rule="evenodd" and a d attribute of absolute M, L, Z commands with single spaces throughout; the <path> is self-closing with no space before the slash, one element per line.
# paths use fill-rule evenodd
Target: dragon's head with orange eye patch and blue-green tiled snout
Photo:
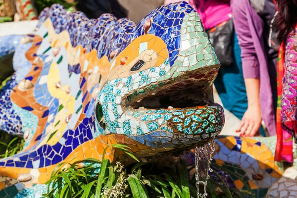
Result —
<path fill-rule="evenodd" d="M 224 125 L 212 94 L 219 61 L 198 13 L 186 3 L 173 4 L 140 24 L 144 34 L 110 54 L 110 72 L 97 97 L 96 130 L 145 145 L 140 156 L 215 139 Z"/>

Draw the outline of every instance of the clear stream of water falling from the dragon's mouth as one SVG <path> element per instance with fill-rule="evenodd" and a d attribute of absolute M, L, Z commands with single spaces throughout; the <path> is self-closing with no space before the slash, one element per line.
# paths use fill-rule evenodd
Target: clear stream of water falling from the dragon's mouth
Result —
<path fill-rule="evenodd" d="M 214 152 L 214 140 L 196 147 L 196 187 L 197 187 L 197 197 L 206 198 L 206 185 L 209 178 L 208 171 L 212 171 L 210 168 L 210 162 L 212 160 L 212 154 Z M 199 191 L 199 185 L 203 185 L 203 191 Z"/>

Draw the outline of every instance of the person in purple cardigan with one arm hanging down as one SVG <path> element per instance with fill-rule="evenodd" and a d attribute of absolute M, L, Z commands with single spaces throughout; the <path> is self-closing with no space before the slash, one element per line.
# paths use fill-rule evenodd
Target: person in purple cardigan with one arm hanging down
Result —
<path fill-rule="evenodd" d="M 243 74 L 247 89 L 247 111 L 237 132 L 254 136 L 263 120 L 269 134 L 276 135 L 276 66 L 278 45 L 273 0 L 231 0 L 234 27 L 241 47 Z"/>

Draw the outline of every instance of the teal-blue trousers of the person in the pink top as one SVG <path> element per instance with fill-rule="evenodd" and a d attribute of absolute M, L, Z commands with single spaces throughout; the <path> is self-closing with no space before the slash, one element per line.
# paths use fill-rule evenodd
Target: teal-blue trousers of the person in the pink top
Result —
<path fill-rule="evenodd" d="M 236 33 L 234 33 L 233 40 L 233 56 L 233 65 L 221 65 L 214 85 L 224 107 L 242 119 L 247 110 L 247 90 L 243 75 L 241 49 Z M 262 127 L 260 127 L 260 133 L 265 136 Z"/>

